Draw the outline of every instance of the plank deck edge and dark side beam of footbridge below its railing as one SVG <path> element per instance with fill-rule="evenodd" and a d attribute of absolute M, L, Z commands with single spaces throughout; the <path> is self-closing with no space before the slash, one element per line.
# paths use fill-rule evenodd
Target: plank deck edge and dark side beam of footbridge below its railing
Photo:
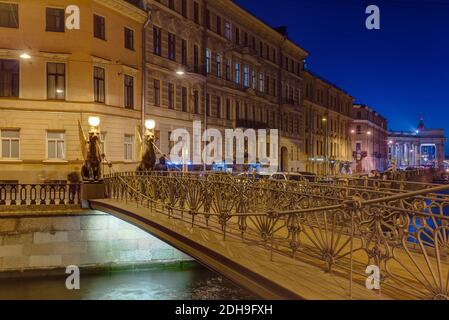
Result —
<path fill-rule="evenodd" d="M 274 254 L 271 261 L 269 249 L 260 244 L 243 242 L 232 233 L 224 241 L 222 234 L 216 231 L 219 225 L 213 225 L 216 222 L 211 221 L 209 228 L 198 225 L 192 228 L 187 220 L 169 218 L 136 203 L 111 199 L 90 203 L 93 209 L 111 213 L 139 226 L 262 298 L 351 299 L 349 279 L 279 254 Z M 390 297 L 353 283 L 352 299 Z"/>

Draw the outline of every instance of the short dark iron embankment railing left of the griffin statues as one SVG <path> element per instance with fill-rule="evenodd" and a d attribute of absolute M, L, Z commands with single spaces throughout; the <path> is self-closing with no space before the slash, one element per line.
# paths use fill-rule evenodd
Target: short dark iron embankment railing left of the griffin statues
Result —
<path fill-rule="evenodd" d="M 80 184 L 0 184 L 0 210 L 6 206 L 78 205 Z"/>

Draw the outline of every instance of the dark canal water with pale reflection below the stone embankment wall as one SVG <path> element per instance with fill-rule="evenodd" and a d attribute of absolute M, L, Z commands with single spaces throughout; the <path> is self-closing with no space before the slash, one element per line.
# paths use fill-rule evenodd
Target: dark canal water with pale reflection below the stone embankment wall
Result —
<path fill-rule="evenodd" d="M 187 269 L 86 274 L 80 290 L 65 277 L 0 280 L 0 300 L 248 300 L 254 296 L 199 265 Z"/>

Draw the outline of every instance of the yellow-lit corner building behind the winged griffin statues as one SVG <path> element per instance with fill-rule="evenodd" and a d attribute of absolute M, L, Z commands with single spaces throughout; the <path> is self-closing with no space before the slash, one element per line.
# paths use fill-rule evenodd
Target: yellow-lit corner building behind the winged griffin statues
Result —
<path fill-rule="evenodd" d="M 70 5 L 79 30 L 65 26 Z M 0 180 L 79 172 L 78 121 L 87 132 L 91 115 L 107 159 L 134 168 L 146 13 L 123 0 L 1 0 L 0 17 Z"/>

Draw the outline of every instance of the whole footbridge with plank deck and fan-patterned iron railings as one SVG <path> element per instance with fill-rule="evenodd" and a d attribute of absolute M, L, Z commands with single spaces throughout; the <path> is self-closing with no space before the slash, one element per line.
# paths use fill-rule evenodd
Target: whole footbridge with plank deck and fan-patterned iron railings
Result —
<path fill-rule="evenodd" d="M 449 297 L 448 186 L 181 173 L 114 173 L 105 185 L 93 209 L 261 298 Z M 379 271 L 379 290 L 367 289 L 367 270 Z"/>

